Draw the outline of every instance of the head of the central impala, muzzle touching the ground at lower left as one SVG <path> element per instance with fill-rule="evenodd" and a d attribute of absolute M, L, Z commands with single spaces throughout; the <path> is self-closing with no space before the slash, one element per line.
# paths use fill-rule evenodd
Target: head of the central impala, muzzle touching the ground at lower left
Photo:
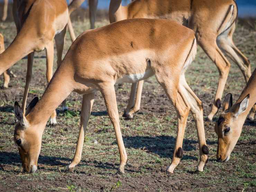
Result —
<path fill-rule="evenodd" d="M 33 109 L 37 102 L 37 97 L 30 102 L 26 115 Z M 37 170 L 37 160 L 40 153 L 42 135 L 40 135 L 40 131 L 35 131 L 35 126 L 30 125 L 29 121 L 22 113 L 18 102 L 15 102 L 14 113 L 18 119 L 14 130 L 14 142 L 19 149 L 22 167 L 25 171 L 34 173 Z"/>

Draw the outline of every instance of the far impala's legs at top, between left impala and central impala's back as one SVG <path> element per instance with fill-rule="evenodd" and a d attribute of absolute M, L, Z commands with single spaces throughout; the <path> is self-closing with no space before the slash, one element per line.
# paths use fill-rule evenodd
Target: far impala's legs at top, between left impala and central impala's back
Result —
<path fill-rule="evenodd" d="M 68 6 L 69 14 L 71 14 L 74 10 L 79 8 L 84 1 L 85 0 L 73 0 L 73 1 L 71 0 L 70 5 Z M 97 6 L 98 6 L 98 0 L 89 0 L 89 17 L 90 17 L 91 29 L 94 29 Z M 76 39 L 76 36 L 75 36 L 74 29 L 72 27 L 70 18 L 68 19 L 67 27 L 70 32 L 71 39 L 74 42 L 74 40 Z"/>

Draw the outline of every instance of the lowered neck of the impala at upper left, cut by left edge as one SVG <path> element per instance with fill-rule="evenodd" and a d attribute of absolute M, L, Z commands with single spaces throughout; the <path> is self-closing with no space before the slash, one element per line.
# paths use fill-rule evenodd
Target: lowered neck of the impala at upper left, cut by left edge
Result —
<path fill-rule="evenodd" d="M 22 32 L 19 33 L 11 45 L 0 55 L 0 75 L 31 52 L 33 52 L 33 48 L 26 41 L 26 36 L 22 36 Z"/>

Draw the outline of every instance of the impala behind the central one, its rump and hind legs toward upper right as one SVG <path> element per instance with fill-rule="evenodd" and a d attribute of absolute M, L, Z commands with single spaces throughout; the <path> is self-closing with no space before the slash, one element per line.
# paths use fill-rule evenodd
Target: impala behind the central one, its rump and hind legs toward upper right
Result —
<path fill-rule="evenodd" d="M 209 120 L 212 120 L 221 106 L 221 96 L 230 69 L 230 63 L 222 51 L 240 67 L 245 81 L 248 81 L 251 75 L 250 63 L 232 40 L 237 18 L 234 0 L 135 0 L 128 6 L 122 6 L 121 0 L 111 0 L 110 22 L 132 18 L 172 19 L 194 30 L 198 44 L 219 70 L 219 84 Z M 133 118 L 133 114 L 139 110 L 142 86 L 143 81 L 132 84 L 125 117 Z M 254 113 L 249 117 L 253 119 Z"/>

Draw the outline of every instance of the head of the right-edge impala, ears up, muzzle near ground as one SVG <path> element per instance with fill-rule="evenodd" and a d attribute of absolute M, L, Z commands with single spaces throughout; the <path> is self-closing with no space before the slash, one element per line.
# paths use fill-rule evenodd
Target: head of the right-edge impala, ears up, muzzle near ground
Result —
<path fill-rule="evenodd" d="M 248 94 L 241 102 L 232 106 L 232 94 L 226 95 L 223 102 L 223 112 L 215 124 L 218 135 L 217 161 L 227 162 L 234 149 L 244 124 L 244 113 L 249 103 Z"/>

